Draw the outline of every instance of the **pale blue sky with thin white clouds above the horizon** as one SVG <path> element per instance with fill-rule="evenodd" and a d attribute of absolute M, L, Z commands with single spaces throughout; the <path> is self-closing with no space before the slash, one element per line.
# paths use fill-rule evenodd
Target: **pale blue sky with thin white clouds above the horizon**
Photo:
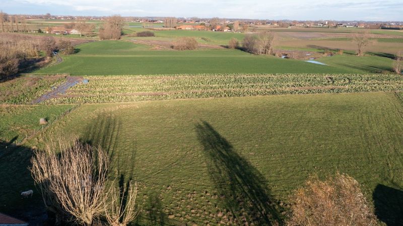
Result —
<path fill-rule="evenodd" d="M 403 1 L 373 0 L 0 0 L 8 14 L 403 21 Z"/>

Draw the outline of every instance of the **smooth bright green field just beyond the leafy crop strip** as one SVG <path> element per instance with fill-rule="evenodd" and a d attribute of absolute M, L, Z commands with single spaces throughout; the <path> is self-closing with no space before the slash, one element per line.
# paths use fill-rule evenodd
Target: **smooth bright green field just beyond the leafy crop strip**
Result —
<path fill-rule="evenodd" d="M 115 49 L 116 47 L 116 49 Z M 126 41 L 98 41 L 77 46 L 78 53 L 35 73 L 85 75 L 180 73 L 364 73 L 365 70 L 325 66 L 241 50 L 150 50 Z M 354 59 L 351 59 L 354 60 Z M 390 64 L 391 65 L 391 64 Z M 376 66 L 376 65 L 375 65 Z M 372 72 L 372 71 L 371 71 Z"/>

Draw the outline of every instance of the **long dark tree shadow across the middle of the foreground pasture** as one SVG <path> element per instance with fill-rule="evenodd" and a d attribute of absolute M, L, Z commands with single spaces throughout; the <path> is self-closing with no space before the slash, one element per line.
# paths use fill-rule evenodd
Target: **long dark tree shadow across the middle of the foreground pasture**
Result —
<path fill-rule="evenodd" d="M 197 124 L 196 131 L 204 146 L 211 180 L 236 224 L 272 225 L 280 221 L 276 200 L 261 173 L 208 122 Z"/>

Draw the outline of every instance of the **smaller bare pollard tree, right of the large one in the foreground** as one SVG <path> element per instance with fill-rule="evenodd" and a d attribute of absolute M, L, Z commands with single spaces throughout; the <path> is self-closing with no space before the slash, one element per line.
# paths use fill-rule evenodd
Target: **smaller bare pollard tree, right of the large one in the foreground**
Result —
<path fill-rule="evenodd" d="M 133 186 L 129 182 L 128 190 L 126 185 L 122 188 L 111 190 L 110 204 L 105 202 L 105 217 L 111 226 L 125 226 L 139 215 L 139 206 L 136 205 L 137 183 Z"/>

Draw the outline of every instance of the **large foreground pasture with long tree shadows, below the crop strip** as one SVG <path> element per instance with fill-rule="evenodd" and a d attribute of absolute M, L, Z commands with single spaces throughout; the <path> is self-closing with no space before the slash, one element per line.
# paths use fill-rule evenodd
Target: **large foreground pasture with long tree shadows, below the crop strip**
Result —
<path fill-rule="evenodd" d="M 85 104 L 31 144 L 64 134 L 100 144 L 121 183 L 139 182 L 140 225 L 267 225 L 259 213 L 287 208 L 308 175 L 340 171 L 397 226 L 402 112 L 394 93 Z"/>

